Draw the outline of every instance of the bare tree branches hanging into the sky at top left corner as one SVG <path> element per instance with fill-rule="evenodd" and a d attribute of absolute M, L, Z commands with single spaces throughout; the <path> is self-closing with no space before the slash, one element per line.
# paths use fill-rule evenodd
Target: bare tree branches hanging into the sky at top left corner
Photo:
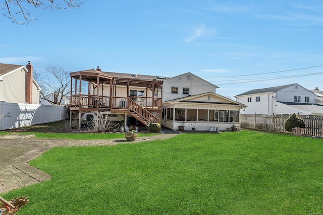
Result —
<path fill-rule="evenodd" d="M 61 6 L 64 3 L 64 6 Z M 80 8 L 83 2 L 77 3 L 73 0 L 5 0 L 4 4 L 0 4 L 0 8 L 4 11 L 4 15 L 17 24 L 34 23 L 36 20 L 30 14 L 28 7 L 36 9 L 58 9 Z M 20 18 L 17 18 L 20 17 Z M 21 22 L 19 19 L 23 19 Z"/>

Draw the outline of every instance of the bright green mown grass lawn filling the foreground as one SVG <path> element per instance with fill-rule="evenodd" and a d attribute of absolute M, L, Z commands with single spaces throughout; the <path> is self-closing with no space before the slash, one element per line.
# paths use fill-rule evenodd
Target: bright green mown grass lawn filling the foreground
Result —
<path fill-rule="evenodd" d="M 323 140 L 254 131 L 53 148 L 23 214 L 321 214 Z"/>

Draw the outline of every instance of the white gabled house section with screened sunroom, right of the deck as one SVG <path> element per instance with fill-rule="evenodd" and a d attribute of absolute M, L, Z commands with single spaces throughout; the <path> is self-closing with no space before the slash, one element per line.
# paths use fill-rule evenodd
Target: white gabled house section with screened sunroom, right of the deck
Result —
<path fill-rule="evenodd" d="M 216 94 L 218 87 L 191 74 L 185 73 L 163 84 L 161 124 L 173 130 L 227 130 L 240 126 L 239 111 L 246 105 Z"/>

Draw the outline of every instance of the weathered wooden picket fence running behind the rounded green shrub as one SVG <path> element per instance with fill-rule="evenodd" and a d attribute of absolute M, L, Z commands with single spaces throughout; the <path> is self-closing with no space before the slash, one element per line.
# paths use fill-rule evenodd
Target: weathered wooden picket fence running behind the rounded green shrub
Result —
<path fill-rule="evenodd" d="M 241 114 L 241 127 L 263 131 L 288 133 L 285 123 L 291 115 L 288 114 Z M 323 116 L 298 115 L 305 122 L 306 135 L 323 137 Z"/>

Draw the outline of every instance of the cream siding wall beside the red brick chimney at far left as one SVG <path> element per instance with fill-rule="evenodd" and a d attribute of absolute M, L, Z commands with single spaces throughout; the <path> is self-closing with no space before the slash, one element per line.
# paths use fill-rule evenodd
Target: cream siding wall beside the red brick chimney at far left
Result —
<path fill-rule="evenodd" d="M 0 101 L 25 103 L 26 71 L 23 68 L 3 77 L 0 82 Z"/>

